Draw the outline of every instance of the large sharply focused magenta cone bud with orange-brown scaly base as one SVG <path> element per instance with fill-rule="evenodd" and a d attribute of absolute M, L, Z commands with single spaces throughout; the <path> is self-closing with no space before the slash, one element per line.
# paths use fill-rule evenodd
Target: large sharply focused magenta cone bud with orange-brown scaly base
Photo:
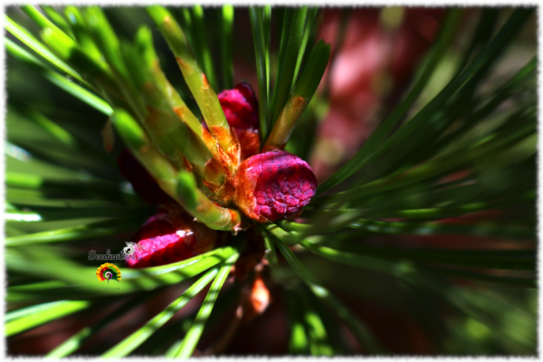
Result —
<path fill-rule="evenodd" d="M 234 199 L 261 223 L 300 214 L 317 191 L 317 179 L 300 157 L 273 150 L 247 158 L 235 176 Z"/>

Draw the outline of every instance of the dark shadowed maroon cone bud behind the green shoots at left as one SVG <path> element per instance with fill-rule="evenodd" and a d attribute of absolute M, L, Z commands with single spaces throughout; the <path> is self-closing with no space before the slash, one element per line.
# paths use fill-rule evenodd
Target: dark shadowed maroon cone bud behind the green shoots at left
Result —
<path fill-rule="evenodd" d="M 148 173 L 148 170 L 141 166 L 136 157 L 128 150 L 124 150 L 117 158 L 119 170 L 122 176 L 127 177 L 134 191 L 150 205 L 175 203 L 162 188 L 158 186 L 157 181 Z"/>

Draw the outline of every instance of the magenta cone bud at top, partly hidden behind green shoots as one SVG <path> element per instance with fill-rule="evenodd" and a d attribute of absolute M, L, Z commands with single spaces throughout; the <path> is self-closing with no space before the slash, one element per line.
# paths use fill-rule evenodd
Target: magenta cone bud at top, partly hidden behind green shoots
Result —
<path fill-rule="evenodd" d="M 251 86 L 248 83 L 239 83 L 233 90 L 220 92 L 218 98 L 228 124 L 235 130 L 240 141 L 242 160 L 258 153 L 258 102 Z"/>

